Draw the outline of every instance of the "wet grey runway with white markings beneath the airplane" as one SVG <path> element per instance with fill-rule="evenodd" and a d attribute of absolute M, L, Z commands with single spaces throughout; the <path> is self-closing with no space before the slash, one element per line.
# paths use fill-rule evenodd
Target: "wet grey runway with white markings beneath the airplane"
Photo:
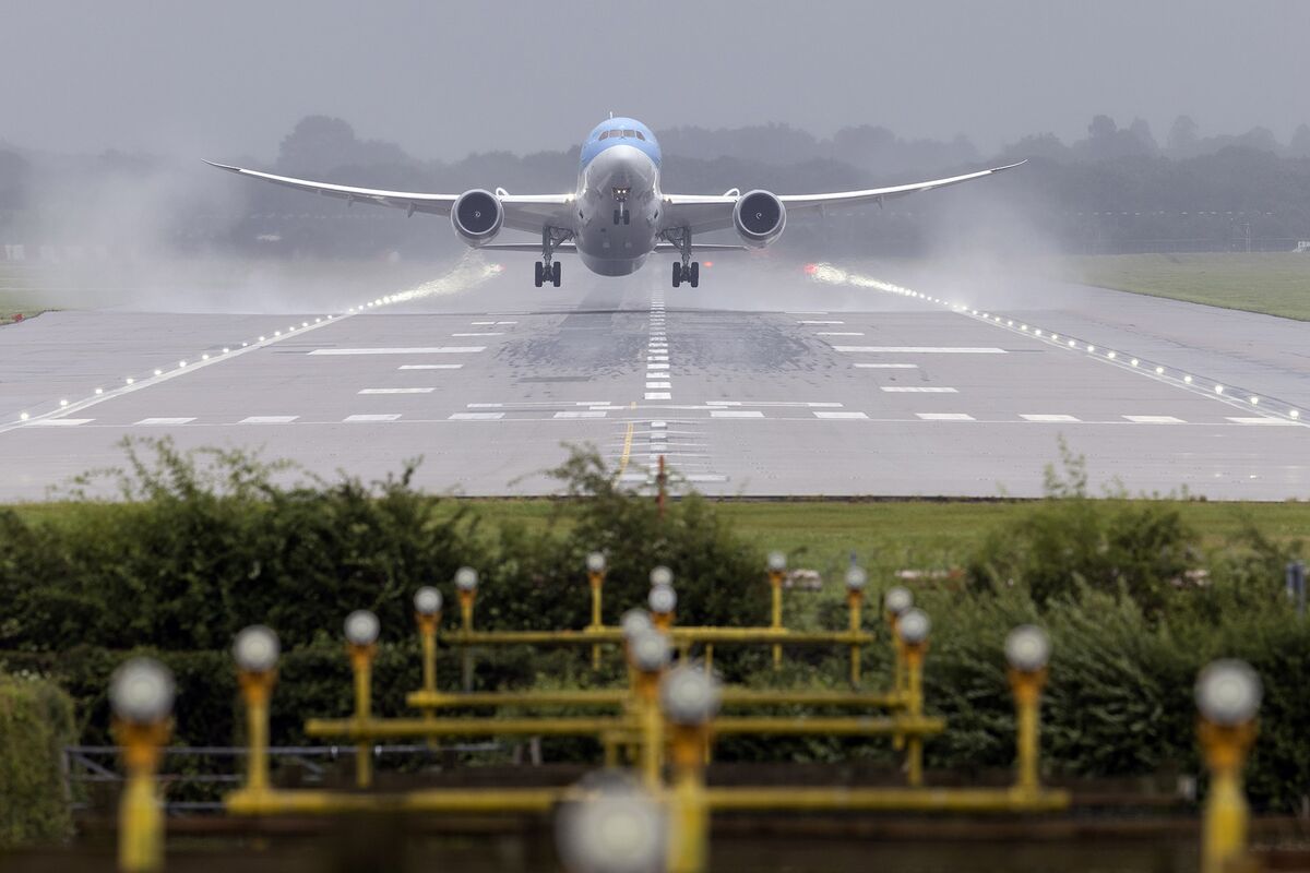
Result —
<path fill-rule="evenodd" d="M 1040 495 L 1062 437 L 1098 493 L 1310 497 L 1302 323 L 769 258 L 672 289 L 660 266 L 537 289 L 531 259 L 474 255 L 318 312 L 0 329 L 0 500 L 130 435 L 325 476 L 422 457 L 418 484 L 462 495 L 555 491 L 575 444 L 637 488 L 663 457 L 710 495 L 982 497 Z"/>

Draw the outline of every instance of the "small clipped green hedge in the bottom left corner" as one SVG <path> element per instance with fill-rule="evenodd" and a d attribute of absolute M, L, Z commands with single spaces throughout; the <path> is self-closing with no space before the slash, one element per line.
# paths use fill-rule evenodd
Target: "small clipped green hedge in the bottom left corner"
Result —
<path fill-rule="evenodd" d="M 0 849 L 72 832 L 60 759 L 75 737 L 67 694 L 45 679 L 0 673 Z"/>

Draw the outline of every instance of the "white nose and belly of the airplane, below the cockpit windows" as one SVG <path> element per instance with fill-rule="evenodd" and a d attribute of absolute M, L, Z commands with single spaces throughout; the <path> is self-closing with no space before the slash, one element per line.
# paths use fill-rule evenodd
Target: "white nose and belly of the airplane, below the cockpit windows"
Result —
<path fill-rule="evenodd" d="M 574 238 L 587 268 L 603 276 L 637 272 L 662 230 L 655 162 L 631 145 L 610 145 L 578 174 L 576 203 Z"/>

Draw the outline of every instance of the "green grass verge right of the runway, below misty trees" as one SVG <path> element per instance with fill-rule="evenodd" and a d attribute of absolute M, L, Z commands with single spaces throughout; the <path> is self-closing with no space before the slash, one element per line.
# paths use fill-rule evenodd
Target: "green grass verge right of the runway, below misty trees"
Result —
<path fill-rule="evenodd" d="M 1062 262 L 1069 279 L 1138 294 L 1310 321 L 1310 255 L 1091 255 Z"/>

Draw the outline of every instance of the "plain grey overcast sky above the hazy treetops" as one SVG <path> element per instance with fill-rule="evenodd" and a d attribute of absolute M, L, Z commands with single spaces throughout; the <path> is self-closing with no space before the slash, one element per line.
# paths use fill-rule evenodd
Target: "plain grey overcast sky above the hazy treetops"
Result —
<path fill-rule="evenodd" d="M 324 113 L 418 157 L 787 122 L 1163 139 L 1310 120 L 1305 0 L 3 1 L 0 141 L 271 160 Z"/>

